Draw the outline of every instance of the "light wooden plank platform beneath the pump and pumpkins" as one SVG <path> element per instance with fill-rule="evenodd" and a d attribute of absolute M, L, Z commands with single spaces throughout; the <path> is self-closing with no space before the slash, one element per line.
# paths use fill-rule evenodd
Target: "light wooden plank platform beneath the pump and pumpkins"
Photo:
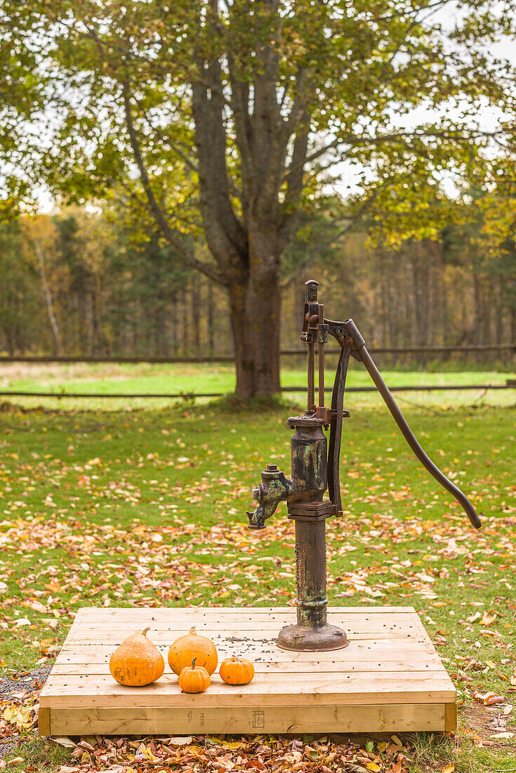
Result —
<path fill-rule="evenodd" d="M 42 735 L 379 733 L 454 730 L 456 691 L 412 607 L 331 608 L 350 644 L 334 652 L 286 652 L 277 632 L 293 608 L 90 608 L 76 615 L 42 690 Z M 110 676 L 111 652 L 134 631 L 165 657 L 146 687 Z M 187 695 L 167 664 L 168 645 L 195 625 L 216 643 L 219 662 L 248 656 L 256 676 L 232 687 L 212 676 Z"/>

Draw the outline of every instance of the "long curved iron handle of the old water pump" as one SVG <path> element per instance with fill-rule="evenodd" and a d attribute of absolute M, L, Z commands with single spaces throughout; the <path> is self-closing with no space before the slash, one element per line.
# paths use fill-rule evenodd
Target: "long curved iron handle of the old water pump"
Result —
<path fill-rule="evenodd" d="M 355 322 L 353 322 L 352 319 L 348 319 L 346 322 L 332 322 L 329 319 L 325 319 L 324 322 L 329 325 L 328 333 L 337 339 L 340 346 L 345 346 L 346 336 L 353 339 L 354 344 L 351 349 L 351 354 L 355 355 L 355 359 L 361 359 L 362 363 L 364 363 L 365 369 L 367 370 L 369 376 L 371 376 L 373 382 L 375 383 L 376 389 L 379 390 L 385 405 L 389 408 L 389 411 L 392 414 L 392 418 L 394 419 L 395 423 L 398 424 L 403 437 L 406 439 L 416 458 L 419 459 L 423 467 L 430 473 L 430 475 L 432 475 L 433 478 L 435 478 L 436 481 L 443 486 L 443 489 L 446 489 L 447 492 L 450 492 L 450 494 L 455 497 L 455 499 L 457 499 L 457 502 L 459 502 L 463 511 L 470 519 L 471 525 L 474 526 L 475 529 L 480 529 L 482 523 L 470 500 L 467 499 L 467 496 L 462 491 L 460 491 L 456 485 L 454 485 L 448 478 L 446 478 L 446 475 L 444 475 L 444 473 L 441 472 L 436 465 L 434 465 L 433 461 L 429 458 L 425 451 L 423 451 L 423 448 L 421 448 L 421 445 L 410 429 L 409 424 L 407 424 L 401 410 L 399 410 L 398 404 L 396 403 L 394 397 L 392 397 L 392 394 L 389 391 L 389 387 L 382 379 L 379 369 L 375 366 L 372 356 L 365 348 L 364 339 L 362 338 L 362 335 L 360 335 L 360 332 L 358 332 L 358 328 L 355 325 Z M 342 333 L 344 333 L 344 335 Z"/>

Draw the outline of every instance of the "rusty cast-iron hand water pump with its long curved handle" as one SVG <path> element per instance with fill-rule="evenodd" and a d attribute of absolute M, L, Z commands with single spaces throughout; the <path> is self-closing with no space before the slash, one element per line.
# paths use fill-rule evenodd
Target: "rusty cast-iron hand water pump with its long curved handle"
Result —
<path fill-rule="evenodd" d="M 287 502 L 288 517 L 296 528 L 297 624 L 288 625 L 278 635 L 278 646 L 297 651 L 341 649 L 348 638 L 341 628 L 329 625 L 326 598 L 326 530 L 325 520 L 342 515 L 339 482 L 342 420 L 349 416 L 344 410 L 344 390 L 349 357 L 362 362 L 382 395 L 392 417 L 410 448 L 423 467 L 450 492 L 467 513 L 475 528 L 480 519 L 466 495 L 446 478 L 419 445 L 412 430 L 385 385 L 365 341 L 352 319 L 333 322 L 324 318 L 324 306 L 317 302 L 318 282 L 306 283 L 303 332 L 307 344 L 307 410 L 291 416 L 287 426 L 294 430 L 291 440 L 292 477 L 286 478 L 277 465 L 267 465 L 262 481 L 253 489 L 258 506 L 247 512 L 250 529 L 263 529 L 280 502 Z M 335 373 L 331 407 L 324 405 L 324 344 L 332 335 L 341 347 Z M 317 344 L 318 383 L 315 403 L 315 345 Z M 327 439 L 323 429 L 329 429 Z M 324 493 L 328 489 L 328 499 Z"/>

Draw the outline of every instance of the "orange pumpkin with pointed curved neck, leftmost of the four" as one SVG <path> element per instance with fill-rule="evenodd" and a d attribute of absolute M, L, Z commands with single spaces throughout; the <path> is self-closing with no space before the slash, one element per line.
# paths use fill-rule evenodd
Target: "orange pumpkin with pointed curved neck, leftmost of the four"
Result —
<path fill-rule="evenodd" d="M 149 628 L 134 633 L 115 649 L 110 657 L 111 676 L 120 684 L 143 687 L 159 679 L 165 671 L 161 652 L 147 638 Z"/>

